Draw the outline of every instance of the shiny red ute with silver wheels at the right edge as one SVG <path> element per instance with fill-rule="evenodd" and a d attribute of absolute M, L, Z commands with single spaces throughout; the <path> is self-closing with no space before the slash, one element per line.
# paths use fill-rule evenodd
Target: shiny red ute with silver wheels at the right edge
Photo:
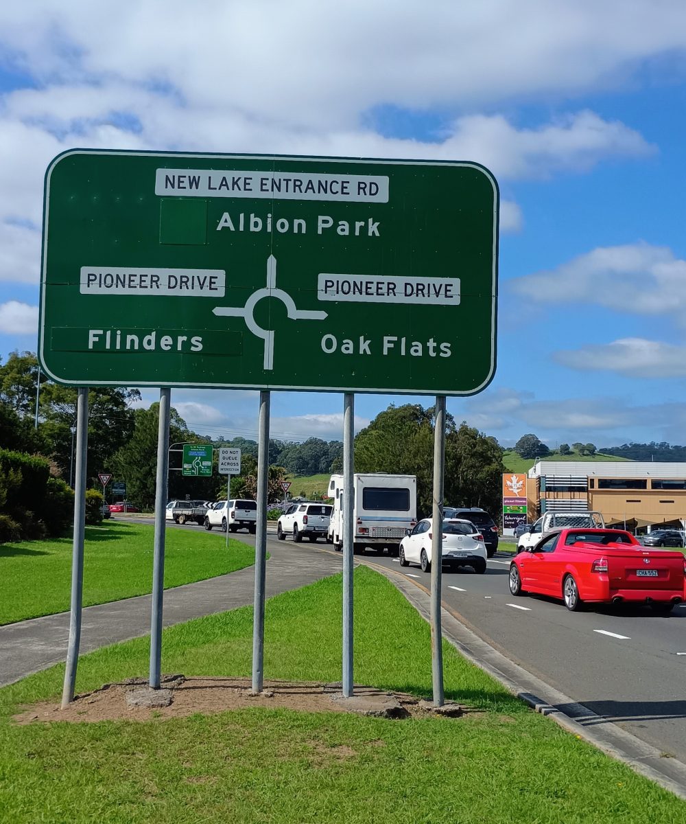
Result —
<path fill-rule="evenodd" d="M 520 552 L 510 564 L 510 592 L 582 602 L 648 603 L 670 611 L 686 597 L 681 552 L 651 550 L 618 529 L 562 529 Z"/>

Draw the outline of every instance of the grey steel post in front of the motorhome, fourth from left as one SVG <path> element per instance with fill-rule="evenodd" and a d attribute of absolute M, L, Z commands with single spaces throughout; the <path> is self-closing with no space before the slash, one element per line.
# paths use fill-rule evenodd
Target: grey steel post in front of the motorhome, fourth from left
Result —
<path fill-rule="evenodd" d="M 354 472 L 354 421 L 355 396 L 346 392 L 343 396 L 343 695 L 350 698 L 352 677 L 352 514 L 355 501 Z"/>

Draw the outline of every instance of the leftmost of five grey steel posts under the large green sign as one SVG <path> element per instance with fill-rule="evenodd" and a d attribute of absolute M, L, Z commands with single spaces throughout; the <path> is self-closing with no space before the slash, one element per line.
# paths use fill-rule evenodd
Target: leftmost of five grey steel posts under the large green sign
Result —
<path fill-rule="evenodd" d="M 79 387 L 77 398 L 77 477 L 74 484 L 74 542 L 72 550 L 72 599 L 69 612 L 69 645 L 64 671 L 62 707 L 74 700 L 78 649 L 81 643 L 83 595 L 83 536 L 86 526 L 86 460 L 88 456 L 88 390 Z"/>

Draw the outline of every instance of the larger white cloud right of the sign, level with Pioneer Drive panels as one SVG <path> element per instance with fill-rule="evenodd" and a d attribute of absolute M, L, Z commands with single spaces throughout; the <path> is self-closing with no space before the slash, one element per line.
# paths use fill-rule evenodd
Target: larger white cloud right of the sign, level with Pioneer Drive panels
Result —
<path fill-rule="evenodd" d="M 647 243 L 594 249 L 510 284 L 516 293 L 539 302 L 597 303 L 641 315 L 686 310 L 686 260 L 665 246 Z"/>

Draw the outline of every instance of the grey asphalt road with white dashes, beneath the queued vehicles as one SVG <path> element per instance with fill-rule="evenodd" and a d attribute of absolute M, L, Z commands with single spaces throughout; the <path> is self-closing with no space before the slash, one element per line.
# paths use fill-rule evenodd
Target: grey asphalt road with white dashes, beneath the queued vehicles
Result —
<path fill-rule="evenodd" d="M 232 537 L 254 542 L 245 532 Z M 291 543 L 289 539 L 287 545 Z M 272 532 L 268 545 L 286 546 Z M 321 552 L 341 557 L 322 541 L 303 541 L 297 549 L 299 558 Z M 431 576 L 418 566 L 401 568 L 398 559 L 371 551 L 365 558 L 431 587 Z M 497 553 L 483 575 L 469 568 L 445 571 L 444 604 L 479 638 L 532 675 L 686 763 L 686 606 L 670 616 L 655 615 L 648 607 L 587 606 L 572 613 L 552 598 L 512 597 L 509 559 Z"/>

